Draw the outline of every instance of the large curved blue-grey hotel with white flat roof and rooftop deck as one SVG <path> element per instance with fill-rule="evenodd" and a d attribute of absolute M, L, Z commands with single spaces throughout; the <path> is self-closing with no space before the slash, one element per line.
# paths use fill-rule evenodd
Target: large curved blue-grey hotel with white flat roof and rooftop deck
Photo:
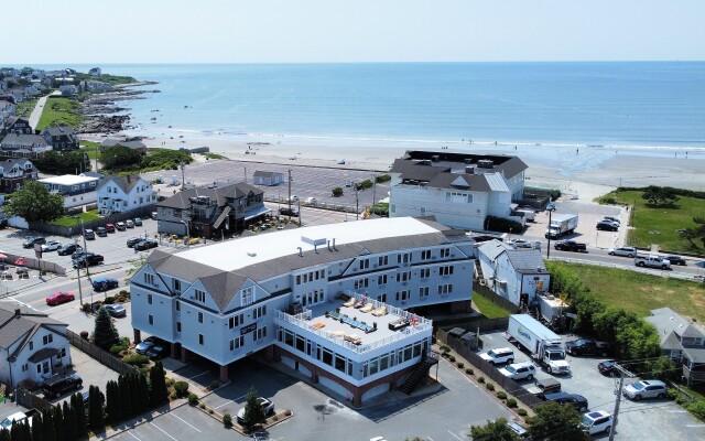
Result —
<path fill-rule="evenodd" d="M 154 250 L 131 279 L 134 340 L 171 342 L 228 366 L 262 351 L 354 405 L 426 363 L 432 323 L 411 311 L 468 311 L 473 240 L 411 217 L 329 224 Z M 352 297 L 367 308 L 344 305 Z M 236 379 L 237 380 L 237 379 Z"/>

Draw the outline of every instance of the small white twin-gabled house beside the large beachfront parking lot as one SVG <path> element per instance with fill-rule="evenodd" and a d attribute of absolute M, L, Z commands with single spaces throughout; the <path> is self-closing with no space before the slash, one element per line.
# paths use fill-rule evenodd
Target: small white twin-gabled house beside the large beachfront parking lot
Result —
<path fill-rule="evenodd" d="M 98 187 L 98 211 L 102 215 L 130 212 L 156 203 L 149 181 L 138 175 L 106 176 Z"/>

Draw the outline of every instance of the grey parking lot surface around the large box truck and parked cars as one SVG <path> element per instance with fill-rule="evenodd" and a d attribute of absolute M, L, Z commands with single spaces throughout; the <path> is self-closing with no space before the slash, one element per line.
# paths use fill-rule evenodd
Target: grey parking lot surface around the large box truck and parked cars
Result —
<path fill-rule="evenodd" d="M 563 340 L 575 340 L 576 335 L 564 335 Z M 507 341 L 503 332 L 482 334 L 482 352 L 497 347 L 510 347 L 514 351 L 516 362 L 531 362 L 528 353 L 520 351 Z M 617 380 L 603 376 L 597 364 L 606 358 L 567 356 L 572 373 L 568 376 L 554 376 L 561 381 L 562 390 L 578 394 L 587 398 L 590 411 L 605 410 L 612 413 Z M 536 378 L 551 377 L 545 370 L 536 367 Z M 626 379 L 625 385 L 637 379 Z M 534 381 L 521 380 L 522 385 Z M 607 439 L 606 435 L 599 438 Z M 704 439 L 705 424 L 695 419 L 685 409 L 669 399 L 644 399 L 630 401 L 622 399 L 617 440 L 687 440 Z"/>

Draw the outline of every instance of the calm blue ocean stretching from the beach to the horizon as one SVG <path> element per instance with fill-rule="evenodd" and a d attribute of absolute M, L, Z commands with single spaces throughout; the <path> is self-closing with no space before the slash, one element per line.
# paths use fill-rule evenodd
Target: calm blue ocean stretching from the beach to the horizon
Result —
<path fill-rule="evenodd" d="M 703 62 L 100 67 L 159 83 L 120 104 L 148 137 L 705 149 Z"/>

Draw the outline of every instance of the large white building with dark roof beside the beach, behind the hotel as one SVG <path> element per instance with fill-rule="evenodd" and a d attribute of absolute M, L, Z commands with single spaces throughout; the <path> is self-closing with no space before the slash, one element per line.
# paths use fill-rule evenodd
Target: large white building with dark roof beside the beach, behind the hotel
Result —
<path fill-rule="evenodd" d="M 524 224 L 512 201 L 524 193 L 517 157 L 408 151 L 390 170 L 389 216 L 435 216 L 445 225 L 491 230 L 488 216 Z"/>

